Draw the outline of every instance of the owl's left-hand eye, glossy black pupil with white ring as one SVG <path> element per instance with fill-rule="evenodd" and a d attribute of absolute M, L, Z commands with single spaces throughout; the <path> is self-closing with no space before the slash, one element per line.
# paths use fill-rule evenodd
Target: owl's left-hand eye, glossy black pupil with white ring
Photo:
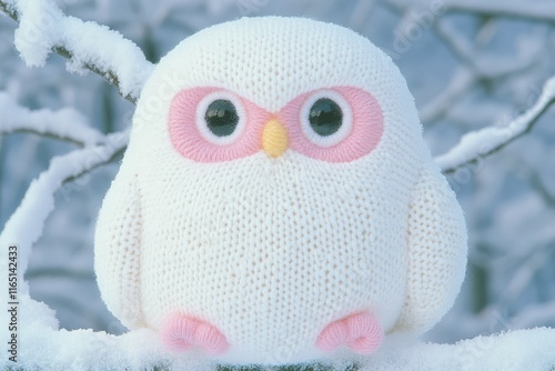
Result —
<path fill-rule="evenodd" d="M 232 144 L 241 137 L 244 126 L 244 107 L 228 91 L 212 92 L 196 107 L 196 128 L 210 143 Z"/>

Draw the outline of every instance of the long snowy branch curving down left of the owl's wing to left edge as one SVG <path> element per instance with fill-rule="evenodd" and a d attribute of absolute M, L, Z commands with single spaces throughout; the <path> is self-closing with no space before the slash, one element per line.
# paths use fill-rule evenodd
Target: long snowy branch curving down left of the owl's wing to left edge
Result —
<path fill-rule="evenodd" d="M 110 161 L 128 142 L 128 131 L 107 137 L 105 142 L 56 157 L 48 170 L 31 182 L 19 208 L 13 212 L 0 233 L 0 245 L 17 245 L 18 273 L 23 277 L 32 244 L 41 237 L 44 221 L 54 209 L 54 193 L 64 182 Z M 6 261 L 2 259 L 2 264 Z M 27 283 L 20 279 L 21 293 L 28 293 Z"/>

